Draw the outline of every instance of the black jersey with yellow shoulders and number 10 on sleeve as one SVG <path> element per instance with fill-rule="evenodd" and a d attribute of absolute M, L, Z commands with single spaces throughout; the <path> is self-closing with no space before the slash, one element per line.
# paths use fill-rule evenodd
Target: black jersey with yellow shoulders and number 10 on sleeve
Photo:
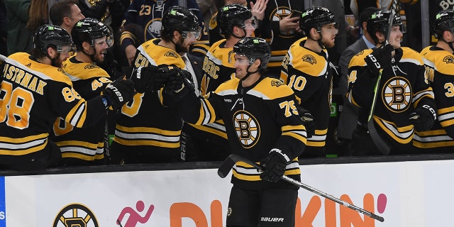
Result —
<path fill-rule="evenodd" d="M 306 38 L 301 38 L 290 46 L 280 79 L 293 89 L 301 107 L 314 116 L 316 131 L 307 139 L 307 146 L 321 148 L 325 146 L 331 115 L 333 76 L 329 73 L 328 53 L 304 48 L 305 42 Z"/>

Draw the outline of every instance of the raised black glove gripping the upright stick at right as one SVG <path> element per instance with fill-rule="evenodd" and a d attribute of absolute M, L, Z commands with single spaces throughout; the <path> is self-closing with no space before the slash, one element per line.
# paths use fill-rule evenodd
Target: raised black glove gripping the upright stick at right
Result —
<path fill-rule="evenodd" d="M 392 50 L 394 50 L 392 45 L 382 45 L 380 48 L 375 48 L 370 55 L 367 55 L 364 58 L 373 77 L 378 76 L 380 69 L 384 69 L 391 65 Z"/>

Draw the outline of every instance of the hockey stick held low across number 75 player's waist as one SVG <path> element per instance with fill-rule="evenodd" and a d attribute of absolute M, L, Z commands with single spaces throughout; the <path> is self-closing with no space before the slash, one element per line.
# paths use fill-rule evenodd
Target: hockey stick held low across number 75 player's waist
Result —
<path fill-rule="evenodd" d="M 250 160 L 246 159 L 245 157 L 241 157 L 240 155 L 232 154 L 232 155 L 229 155 L 226 158 L 226 160 L 224 160 L 222 162 L 221 166 L 218 168 L 219 177 L 222 177 L 222 178 L 227 177 L 228 172 L 230 172 L 230 170 L 236 164 L 236 162 L 245 162 L 245 163 L 247 163 L 249 165 L 252 165 L 256 169 L 260 170 L 260 172 L 262 172 L 264 170 L 263 167 L 258 165 L 257 163 L 255 163 L 253 161 L 250 161 Z M 325 192 L 321 192 L 318 189 L 314 189 L 313 187 L 310 187 L 309 185 L 303 184 L 303 183 L 301 183 L 301 182 L 299 182 L 299 181 L 297 181 L 295 179 L 292 179 L 292 178 L 287 177 L 285 175 L 282 176 L 281 179 L 284 179 L 285 181 L 287 181 L 287 182 L 289 182 L 291 184 L 294 184 L 294 185 L 297 185 L 298 187 L 306 189 L 309 192 L 314 192 L 315 194 L 318 194 L 319 196 L 323 196 L 326 199 L 329 199 L 331 201 L 335 201 L 336 203 L 341 204 L 343 206 L 346 206 L 346 207 L 348 207 L 350 209 L 353 209 L 354 211 L 357 211 L 357 212 L 359 212 L 361 214 L 365 214 L 366 216 L 370 216 L 371 218 L 374 218 L 377 221 L 380 221 L 380 222 L 384 221 L 384 218 L 381 217 L 381 216 L 378 216 L 377 214 L 373 214 L 372 212 L 366 211 L 365 209 L 362 209 L 362 208 L 360 208 L 358 206 L 355 206 L 353 204 L 349 204 L 348 202 L 343 201 L 342 199 L 338 199 L 338 198 L 332 196 L 331 194 L 326 194 Z"/>

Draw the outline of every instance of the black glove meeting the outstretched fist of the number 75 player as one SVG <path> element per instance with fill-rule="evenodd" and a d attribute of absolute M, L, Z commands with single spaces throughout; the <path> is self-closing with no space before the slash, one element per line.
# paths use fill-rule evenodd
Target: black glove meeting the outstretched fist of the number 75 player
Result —
<path fill-rule="evenodd" d="M 177 72 L 169 70 L 167 65 L 148 65 L 134 69 L 131 73 L 131 79 L 134 82 L 135 91 L 144 93 L 164 87 L 165 80 L 172 73 L 176 74 Z"/>

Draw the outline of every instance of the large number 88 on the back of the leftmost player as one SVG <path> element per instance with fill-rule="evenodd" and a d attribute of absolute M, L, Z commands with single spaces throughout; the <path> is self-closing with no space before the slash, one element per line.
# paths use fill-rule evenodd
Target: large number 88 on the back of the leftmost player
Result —
<path fill-rule="evenodd" d="M 33 94 L 21 87 L 13 89 L 11 83 L 3 82 L 0 100 L 0 122 L 6 120 L 6 125 L 13 128 L 28 128 L 30 111 L 35 102 Z"/>

